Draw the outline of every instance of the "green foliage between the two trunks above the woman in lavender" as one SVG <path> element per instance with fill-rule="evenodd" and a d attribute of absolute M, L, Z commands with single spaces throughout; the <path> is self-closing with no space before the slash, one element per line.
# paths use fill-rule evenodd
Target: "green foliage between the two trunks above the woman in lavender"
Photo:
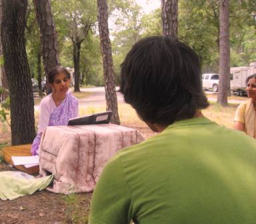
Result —
<path fill-rule="evenodd" d="M 74 67 L 73 47 L 81 43 L 80 74 L 82 85 L 101 86 L 103 69 L 99 37 L 96 34 L 96 1 L 57 0 L 52 2 L 58 35 L 61 65 Z M 86 33 L 87 25 L 91 26 Z M 86 35 L 87 34 L 87 35 Z"/>

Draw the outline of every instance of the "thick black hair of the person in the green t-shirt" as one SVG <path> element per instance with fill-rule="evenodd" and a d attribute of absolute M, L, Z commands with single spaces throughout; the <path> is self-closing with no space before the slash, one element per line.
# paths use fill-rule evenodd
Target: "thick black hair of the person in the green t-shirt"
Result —
<path fill-rule="evenodd" d="M 121 65 L 120 92 L 139 117 L 159 125 L 192 118 L 209 105 L 199 57 L 169 36 L 146 37 L 133 45 Z"/>

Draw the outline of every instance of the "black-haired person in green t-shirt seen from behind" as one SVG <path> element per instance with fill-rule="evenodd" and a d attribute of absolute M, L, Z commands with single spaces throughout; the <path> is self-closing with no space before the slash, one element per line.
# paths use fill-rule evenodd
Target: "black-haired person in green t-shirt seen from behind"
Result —
<path fill-rule="evenodd" d="M 120 91 L 159 133 L 107 163 L 90 224 L 255 223 L 255 141 L 203 116 L 199 57 L 188 45 L 168 36 L 135 43 Z"/>

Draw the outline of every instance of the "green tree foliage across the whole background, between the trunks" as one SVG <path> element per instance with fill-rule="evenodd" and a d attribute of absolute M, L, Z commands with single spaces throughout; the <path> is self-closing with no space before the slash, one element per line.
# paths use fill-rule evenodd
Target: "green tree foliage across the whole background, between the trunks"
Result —
<path fill-rule="evenodd" d="M 132 45 L 143 37 L 161 35 L 161 9 L 143 14 L 135 0 L 109 0 L 109 21 L 116 84 L 120 65 Z M 55 0 L 51 8 L 57 29 L 61 65 L 73 67 L 74 39 L 82 39 L 85 25 L 91 29 L 81 43 L 80 73 L 83 85 L 104 85 L 97 4 L 91 0 Z M 203 72 L 219 71 L 219 4 L 213 0 L 179 0 L 180 39 L 198 53 Z M 110 23 L 111 24 L 111 23 Z M 230 1 L 231 67 L 256 61 L 255 0 Z M 41 51 L 40 35 L 32 0 L 27 11 L 27 54 L 31 73 L 37 74 L 37 55 Z M 2 59 L 0 59 L 0 63 Z M 41 66 L 43 67 L 43 66 Z"/>

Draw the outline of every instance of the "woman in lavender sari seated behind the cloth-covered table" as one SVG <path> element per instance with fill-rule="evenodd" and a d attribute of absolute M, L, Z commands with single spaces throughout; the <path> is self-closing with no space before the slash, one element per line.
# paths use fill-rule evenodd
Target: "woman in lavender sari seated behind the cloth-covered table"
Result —
<path fill-rule="evenodd" d="M 39 125 L 31 153 L 39 154 L 39 144 L 43 131 L 48 126 L 67 125 L 69 119 L 78 115 L 78 101 L 69 93 L 70 73 L 63 67 L 55 67 L 49 72 L 49 85 L 53 93 L 41 100 L 39 105 Z"/>

